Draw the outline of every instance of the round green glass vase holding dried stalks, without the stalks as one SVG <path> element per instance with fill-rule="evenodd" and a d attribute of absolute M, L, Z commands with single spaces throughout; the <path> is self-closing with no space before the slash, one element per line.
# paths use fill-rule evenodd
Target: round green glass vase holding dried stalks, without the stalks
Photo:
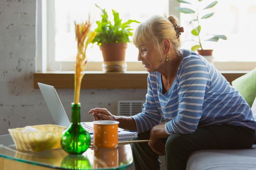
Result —
<path fill-rule="evenodd" d="M 80 103 L 71 103 L 71 124 L 62 132 L 61 146 L 64 151 L 72 155 L 84 153 L 90 146 L 91 137 L 89 132 L 80 124 Z"/>

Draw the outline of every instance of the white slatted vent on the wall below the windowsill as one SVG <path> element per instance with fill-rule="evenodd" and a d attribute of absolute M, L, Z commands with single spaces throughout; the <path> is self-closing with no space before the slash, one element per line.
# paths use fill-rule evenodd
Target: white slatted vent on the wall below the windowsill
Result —
<path fill-rule="evenodd" d="M 119 100 L 118 101 L 118 115 L 132 116 L 142 112 L 143 103 L 145 100 Z"/>

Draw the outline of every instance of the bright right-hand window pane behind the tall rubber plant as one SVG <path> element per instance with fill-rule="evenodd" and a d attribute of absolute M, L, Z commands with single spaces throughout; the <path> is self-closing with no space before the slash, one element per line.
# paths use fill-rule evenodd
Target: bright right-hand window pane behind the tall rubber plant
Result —
<path fill-rule="evenodd" d="M 256 1 L 247 0 L 246 3 L 241 0 L 222 0 L 213 8 L 202 10 L 208 4 L 209 0 L 199 2 L 198 0 L 190 1 L 191 4 L 181 4 L 182 7 L 199 9 L 201 15 L 214 12 L 214 15 L 207 19 L 201 19 L 202 26 L 200 39 L 208 39 L 211 34 L 224 34 L 227 40 L 220 39 L 218 42 L 203 41 L 203 48 L 214 49 L 214 60 L 219 62 L 255 62 L 256 56 L 251 53 L 255 49 L 256 39 Z M 199 5 L 200 4 L 200 5 Z M 199 6 L 198 6 L 199 5 Z M 196 36 L 191 34 L 191 30 L 197 27 L 197 23 L 189 22 L 195 19 L 194 14 L 181 14 L 181 26 L 185 28 L 181 36 L 183 47 L 189 48 L 196 45 L 193 41 L 197 40 Z M 196 38 L 195 38 L 196 37 Z M 256 67 L 256 64 L 255 64 Z"/>

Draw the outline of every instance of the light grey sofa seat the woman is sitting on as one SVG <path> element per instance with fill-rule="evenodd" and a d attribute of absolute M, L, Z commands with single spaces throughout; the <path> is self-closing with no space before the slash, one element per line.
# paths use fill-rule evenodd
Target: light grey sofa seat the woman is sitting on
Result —
<path fill-rule="evenodd" d="M 251 149 L 201 150 L 191 153 L 186 170 L 255 170 L 256 144 Z"/>

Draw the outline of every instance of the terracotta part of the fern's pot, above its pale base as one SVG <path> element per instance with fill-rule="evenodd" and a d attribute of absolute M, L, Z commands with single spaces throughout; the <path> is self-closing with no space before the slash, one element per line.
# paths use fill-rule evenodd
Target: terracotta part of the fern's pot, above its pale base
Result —
<path fill-rule="evenodd" d="M 104 61 L 124 61 L 126 49 L 126 42 L 103 44 L 100 46 Z"/>

